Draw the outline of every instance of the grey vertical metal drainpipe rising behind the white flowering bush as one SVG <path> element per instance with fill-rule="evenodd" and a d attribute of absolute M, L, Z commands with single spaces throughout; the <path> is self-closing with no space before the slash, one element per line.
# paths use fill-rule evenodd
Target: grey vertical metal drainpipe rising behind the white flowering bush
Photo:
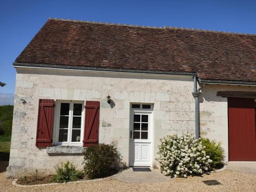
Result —
<path fill-rule="evenodd" d="M 192 95 L 195 98 L 195 113 L 196 113 L 196 139 L 200 137 L 200 103 L 199 103 L 199 96 L 201 95 L 200 90 L 203 89 L 203 87 L 200 87 L 197 89 L 197 77 L 194 76 L 194 92 Z"/>

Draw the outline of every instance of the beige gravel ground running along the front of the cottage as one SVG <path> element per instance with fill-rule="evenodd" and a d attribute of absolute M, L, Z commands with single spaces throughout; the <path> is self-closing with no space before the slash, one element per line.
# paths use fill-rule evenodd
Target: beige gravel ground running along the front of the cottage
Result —
<path fill-rule="evenodd" d="M 161 183 L 125 183 L 114 179 L 48 186 L 18 187 L 0 174 L 0 191 L 256 191 L 256 175 L 223 170 L 202 177 L 177 178 Z M 222 185 L 207 186 L 202 180 L 216 179 Z"/>

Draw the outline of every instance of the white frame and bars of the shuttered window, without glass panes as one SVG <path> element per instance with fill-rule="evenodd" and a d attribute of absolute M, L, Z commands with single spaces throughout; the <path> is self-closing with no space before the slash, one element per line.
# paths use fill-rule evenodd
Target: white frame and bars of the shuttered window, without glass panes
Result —
<path fill-rule="evenodd" d="M 59 119 L 60 119 L 60 106 L 61 103 L 70 103 L 69 108 L 69 124 L 68 124 L 68 141 L 67 142 L 59 142 Z M 82 104 L 82 113 L 81 113 L 81 134 L 80 134 L 80 142 L 71 142 L 72 139 L 72 124 L 73 124 L 73 108 L 74 103 Z M 73 100 L 56 100 L 56 113 L 55 113 L 55 126 L 54 126 L 54 145 L 64 145 L 64 146 L 82 146 L 83 145 L 83 132 L 84 132 L 84 101 L 73 101 Z"/>

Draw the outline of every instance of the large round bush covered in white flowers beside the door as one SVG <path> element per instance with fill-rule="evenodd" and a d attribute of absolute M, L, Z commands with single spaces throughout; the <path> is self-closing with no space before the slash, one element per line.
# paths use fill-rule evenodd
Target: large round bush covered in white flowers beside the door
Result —
<path fill-rule="evenodd" d="M 188 175 L 203 174 L 211 168 L 212 160 L 205 155 L 205 146 L 200 138 L 195 139 L 189 134 L 181 137 L 168 135 L 160 142 L 156 159 L 164 175 L 186 178 Z"/>

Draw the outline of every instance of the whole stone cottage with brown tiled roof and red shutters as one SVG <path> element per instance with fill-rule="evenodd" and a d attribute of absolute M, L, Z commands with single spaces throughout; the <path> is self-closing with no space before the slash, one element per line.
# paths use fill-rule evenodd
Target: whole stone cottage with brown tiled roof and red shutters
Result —
<path fill-rule="evenodd" d="M 49 19 L 13 67 L 7 176 L 81 166 L 96 143 L 157 167 L 159 139 L 186 131 L 256 161 L 255 35 Z"/>

